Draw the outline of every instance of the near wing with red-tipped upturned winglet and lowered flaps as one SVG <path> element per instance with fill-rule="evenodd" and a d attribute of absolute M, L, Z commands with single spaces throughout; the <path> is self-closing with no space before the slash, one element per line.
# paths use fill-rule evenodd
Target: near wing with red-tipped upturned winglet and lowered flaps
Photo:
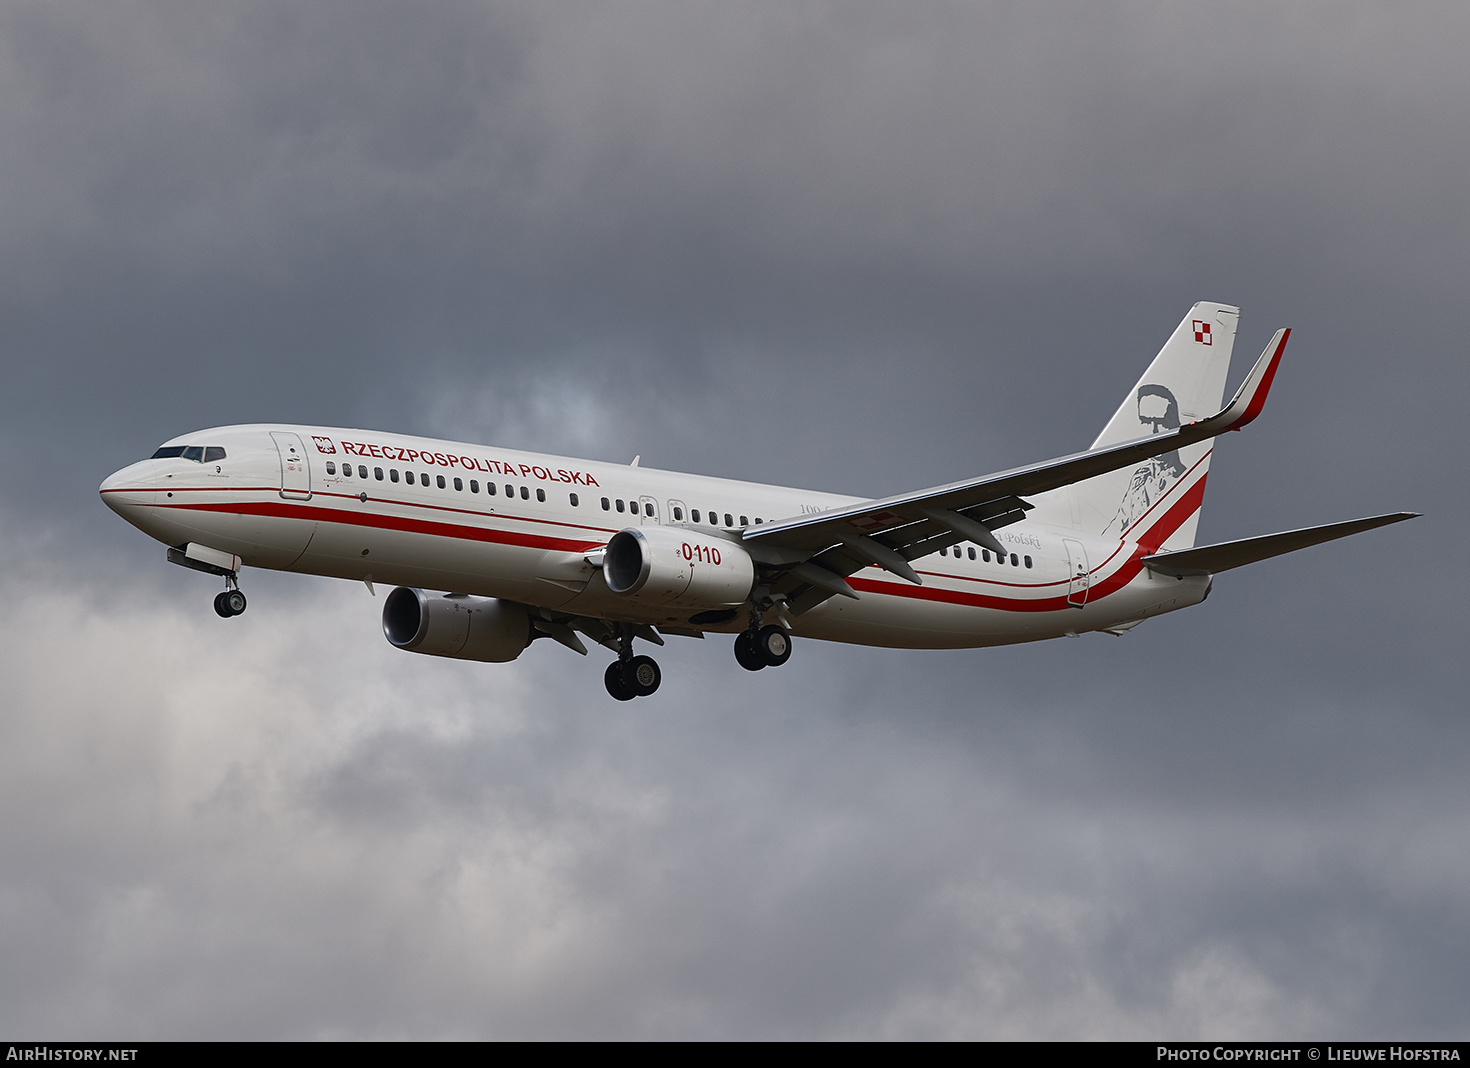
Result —
<path fill-rule="evenodd" d="M 1239 430 L 1261 413 L 1289 336 L 1291 331 L 1276 332 L 1232 401 L 1208 419 L 967 482 L 747 527 L 742 544 L 759 564 L 781 571 L 773 574 L 769 588 L 785 596 L 797 614 L 833 593 L 857 598 L 845 579 L 870 564 L 922 585 L 910 560 L 961 541 L 1003 552 L 991 532 L 1025 517 L 1030 505 L 1023 497 Z"/>

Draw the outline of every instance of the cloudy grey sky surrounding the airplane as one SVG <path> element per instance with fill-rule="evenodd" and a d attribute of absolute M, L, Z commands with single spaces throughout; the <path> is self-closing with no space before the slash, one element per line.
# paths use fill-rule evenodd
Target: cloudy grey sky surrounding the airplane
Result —
<path fill-rule="evenodd" d="M 0 0 L 0 1033 L 1464 1037 L 1461 4 Z M 313 422 L 881 495 L 1244 309 L 1223 541 L 1123 638 L 250 613 L 97 483 Z M 1448 571 L 1441 571 L 1448 567 Z M 550 648 L 547 648 L 550 646 Z"/>

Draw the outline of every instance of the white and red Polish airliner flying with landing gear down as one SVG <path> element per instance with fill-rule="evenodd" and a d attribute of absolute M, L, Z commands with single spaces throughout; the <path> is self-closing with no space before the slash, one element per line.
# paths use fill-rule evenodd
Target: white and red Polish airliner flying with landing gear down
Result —
<path fill-rule="evenodd" d="M 785 664 L 792 636 L 1122 635 L 1220 571 L 1417 516 L 1195 546 L 1214 438 L 1260 414 L 1291 335 L 1220 407 L 1238 320 L 1195 304 L 1083 452 L 878 499 L 300 425 L 173 438 L 100 494 L 169 561 L 223 579 L 222 617 L 245 610 L 245 566 L 392 585 L 391 645 L 507 663 L 539 638 L 587 655 L 587 638 L 616 654 L 619 701 L 659 689 L 634 641 L 666 635 L 734 635 L 751 671 Z"/>

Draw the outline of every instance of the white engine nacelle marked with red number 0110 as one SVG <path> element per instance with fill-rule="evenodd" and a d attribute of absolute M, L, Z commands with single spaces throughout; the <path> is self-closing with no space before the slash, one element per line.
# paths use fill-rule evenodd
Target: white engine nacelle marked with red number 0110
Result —
<path fill-rule="evenodd" d="M 756 585 L 744 548 L 678 526 L 619 530 L 603 552 L 603 577 L 614 593 L 650 605 L 732 608 Z"/>

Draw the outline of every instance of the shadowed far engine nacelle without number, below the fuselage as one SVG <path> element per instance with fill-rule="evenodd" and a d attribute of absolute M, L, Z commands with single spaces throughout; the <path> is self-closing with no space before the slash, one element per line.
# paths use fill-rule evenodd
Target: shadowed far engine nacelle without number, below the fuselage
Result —
<path fill-rule="evenodd" d="M 531 645 L 531 617 L 513 601 L 398 586 L 384 601 L 382 633 L 409 652 L 504 664 Z"/>

